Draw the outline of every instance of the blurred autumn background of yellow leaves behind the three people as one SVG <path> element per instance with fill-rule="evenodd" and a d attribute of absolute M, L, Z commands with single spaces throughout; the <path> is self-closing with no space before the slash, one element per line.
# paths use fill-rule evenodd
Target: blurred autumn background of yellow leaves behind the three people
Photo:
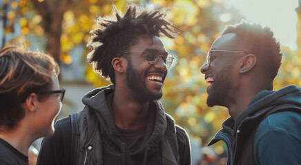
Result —
<path fill-rule="evenodd" d="M 244 19 L 269 26 L 283 53 L 274 89 L 301 86 L 301 0 L 0 0 L 1 47 L 27 45 L 48 52 L 59 63 L 61 87 L 66 89 L 59 118 L 81 111 L 84 94 L 110 84 L 86 64 L 86 43 L 97 26 L 95 19 L 110 15 L 112 3 L 123 12 L 128 3 L 167 7 L 166 17 L 182 31 L 177 39 L 162 39 L 176 57 L 165 80 L 162 103 L 190 135 L 193 165 L 224 164 L 226 157 L 222 142 L 206 147 L 229 113 L 223 107 L 206 106 L 207 85 L 200 74 L 206 53 L 225 25 Z"/>

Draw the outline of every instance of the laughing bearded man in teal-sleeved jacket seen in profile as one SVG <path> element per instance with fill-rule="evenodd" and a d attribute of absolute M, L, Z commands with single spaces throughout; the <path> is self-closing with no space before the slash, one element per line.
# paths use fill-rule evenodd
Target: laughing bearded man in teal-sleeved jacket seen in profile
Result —
<path fill-rule="evenodd" d="M 223 140 L 227 164 L 300 164 L 301 88 L 273 91 L 280 44 L 269 28 L 245 21 L 229 25 L 207 54 L 207 104 L 231 115 L 208 145 Z"/>

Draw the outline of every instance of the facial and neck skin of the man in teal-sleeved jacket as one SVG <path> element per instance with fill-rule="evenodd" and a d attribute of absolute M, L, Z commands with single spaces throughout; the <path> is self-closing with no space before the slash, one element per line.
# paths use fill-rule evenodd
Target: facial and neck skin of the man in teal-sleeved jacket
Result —
<path fill-rule="evenodd" d="M 242 43 L 237 39 L 235 33 L 224 34 L 220 36 L 212 45 L 211 50 L 236 50 L 242 52 L 250 52 L 247 44 Z M 208 57 L 207 57 L 208 58 Z M 205 79 L 208 77 L 217 78 L 217 74 L 223 71 L 226 66 L 232 65 L 230 73 L 224 73 L 231 77 L 231 85 L 226 95 L 223 95 L 223 100 L 219 104 L 229 109 L 229 114 L 233 120 L 248 107 L 251 100 L 256 94 L 262 90 L 272 90 L 273 80 L 262 74 L 260 67 L 262 64 L 257 60 L 254 54 L 241 54 L 234 56 L 224 53 L 223 56 L 217 56 L 212 61 L 210 67 L 204 64 L 200 72 L 205 74 Z M 208 87 L 208 95 L 214 90 L 214 81 L 211 87 Z M 209 97 L 208 96 L 208 97 Z"/>

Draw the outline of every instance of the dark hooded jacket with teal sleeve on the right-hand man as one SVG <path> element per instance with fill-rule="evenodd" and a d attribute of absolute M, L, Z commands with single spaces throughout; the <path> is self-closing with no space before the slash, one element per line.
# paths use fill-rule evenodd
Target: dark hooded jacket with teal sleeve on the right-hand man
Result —
<path fill-rule="evenodd" d="M 261 91 L 236 122 L 228 118 L 208 145 L 223 140 L 227 164 L 300 164 L 301 88 Z"/>

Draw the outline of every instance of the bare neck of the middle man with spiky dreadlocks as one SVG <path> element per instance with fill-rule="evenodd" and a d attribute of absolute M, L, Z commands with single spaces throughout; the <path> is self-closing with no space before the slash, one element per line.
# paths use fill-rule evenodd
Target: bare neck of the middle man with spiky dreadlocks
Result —
<path fill-rule="evenodd" d="M 131 96 L 124 96 L 115 89 L 112 101 L 113 117 L 121 129 L 138 129 L 146 124 L 149 102 L 138 102 Z"/>

